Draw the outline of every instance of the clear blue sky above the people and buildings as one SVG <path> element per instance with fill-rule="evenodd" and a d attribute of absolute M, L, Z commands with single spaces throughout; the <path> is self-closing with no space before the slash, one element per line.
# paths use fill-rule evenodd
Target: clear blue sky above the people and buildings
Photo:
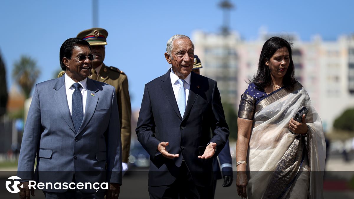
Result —
<path fill-rule="evenodd" d="M 222 24 L 218 1 L 99 1 L 98 25 L 107 29 L 104 63 L 123 70 L 129 79 L 132 108 L 139 108 L 144 84 L 165 74 L 167 40 L 194 30 L 215 33 Z M 319 34 L 324 40 L 354 33 L 354 1 L 236 1 L 231 29 L 245 40 L 258 38 L 259 29 L 297 33 L 301 40 Z M 68 38 L 92 28 L 91 0 L 2 1 L 0 51 L 10 87 L 13 63 L 21 55 L 36 59 L 41 70 L 37 83 L 53 78 L 59 49 Z M 193 38 L 192 38 L 193 39 Z"/>

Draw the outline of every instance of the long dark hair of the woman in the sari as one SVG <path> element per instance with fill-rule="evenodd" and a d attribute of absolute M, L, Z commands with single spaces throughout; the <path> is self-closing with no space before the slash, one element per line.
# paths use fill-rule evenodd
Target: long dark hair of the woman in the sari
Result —
<path fill-rule="evenodd" d="M 286 47 L 289 51 L 290 64 L 284 76 L 283 84 L 286 89 L 293 89 L 296 83 L 296 79 L 294 76 L 295 67 L 291 57 L 291 45 L 292 43 L 289 43 L 285 39 L 277 36 L 273 36 L 272 38 L 268 39 L 264 43 L 261 55 L 259 56 L 257 73 L 253 75 L 253 78 L 251 78 L 249 82 L 253 82 L 258 87 L 258 89 L 264 89 L 265 87 L 269 86 L 272 79 L 270 77 L 269 67 L 265 65 L 265 61 L 269 60 L 278 49 Z"/>

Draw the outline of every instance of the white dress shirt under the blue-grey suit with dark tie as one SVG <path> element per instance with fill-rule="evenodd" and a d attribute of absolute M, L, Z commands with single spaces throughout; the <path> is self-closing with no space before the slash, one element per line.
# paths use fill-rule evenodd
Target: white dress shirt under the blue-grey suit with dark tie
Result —
<path fill-rule="evenodd" d="M 65 91 L 67 93 L 67 99 L 68 99 L 68 105 L 69 105 L 69 110 L 70 110 L 70 115 L 71 115 L 71 108 L 72 108 L 72 96 L 74 93 L 74 87 L 73 84 L 75 81 L 71 79 L 67 74 L 65 75 Z M 81 85 L 80 91 L 81 91 L 81 96 L 82 96 L 82 107 L 84 108 L 84 115 L 85 115 L 85 107 L 86 107 L 86 98 L 87 98 L 87 78 L 85 78 L 82 81 L 78 82 Z"/>

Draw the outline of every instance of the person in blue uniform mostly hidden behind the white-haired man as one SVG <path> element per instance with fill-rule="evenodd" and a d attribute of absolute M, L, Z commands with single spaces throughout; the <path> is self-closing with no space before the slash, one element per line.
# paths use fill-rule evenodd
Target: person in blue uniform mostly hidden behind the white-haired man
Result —
<path fill-rule="evenodd" d="M 197 55 L 194 55 L 193 72 L 200 74 L 200 69 L 203 68 L 201 61 Z M 214 171 L 214 197 L 217 180 L 224 179 L 223 187 L 229 187 L 233 181 L 232 174 L 232 157 L 230 155 L 229 140 L 226 142 L 225 147 L 221 150 L 218 157 L 213 160 Z"/>

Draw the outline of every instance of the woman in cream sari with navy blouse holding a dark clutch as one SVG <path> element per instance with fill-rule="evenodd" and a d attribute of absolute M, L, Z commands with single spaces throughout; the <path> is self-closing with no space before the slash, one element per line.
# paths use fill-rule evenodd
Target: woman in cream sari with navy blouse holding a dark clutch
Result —
<path fill-rule="evenodd" d="M 266 41 L 239 107 L 236 185 L 241 198 L 323 198 L 322 123 L 294 74 L 289 42 Z M 301 107 L 308 114 L 297 122 L 292 117 Z"/>

